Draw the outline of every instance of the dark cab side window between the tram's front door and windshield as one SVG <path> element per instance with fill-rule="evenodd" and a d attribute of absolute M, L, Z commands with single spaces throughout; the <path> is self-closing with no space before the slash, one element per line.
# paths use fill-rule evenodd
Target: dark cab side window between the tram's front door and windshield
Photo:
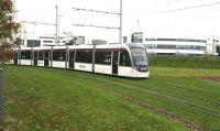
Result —
<path fill-rule="evenodd" d="M 120 66 L 131 66 L 130 55 L 127 51 L 120 52 Z"/>

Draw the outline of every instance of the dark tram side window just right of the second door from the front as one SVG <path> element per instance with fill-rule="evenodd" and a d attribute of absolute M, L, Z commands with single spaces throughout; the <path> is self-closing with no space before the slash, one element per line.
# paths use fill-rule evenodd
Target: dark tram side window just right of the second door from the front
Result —
<path fill-rule="evenodd" d="M 92 52 L 76 52 L 77 63 L 92 63 Z"/>

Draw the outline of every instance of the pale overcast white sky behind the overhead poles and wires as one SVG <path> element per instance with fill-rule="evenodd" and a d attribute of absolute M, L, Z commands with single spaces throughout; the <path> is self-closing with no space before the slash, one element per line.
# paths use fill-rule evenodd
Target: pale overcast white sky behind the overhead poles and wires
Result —
<path fill-rule="evenodd" d="M 16 20 L 55 23 L 59 34 L 72 32 L 89 40 L 119 41 L 118 30 L 80 28 L 73 24 L 119 26 L 119 15 L 76 11 L 73 8 L 119 12 L 120 0 L 15 0 Z M 145 37 L 210 39 L 220 35 L 220 0 L 123 0 L 123 35 L 144 32 Z M 26 37 L 55 34 L 54 25 L 22 24 Z"/>

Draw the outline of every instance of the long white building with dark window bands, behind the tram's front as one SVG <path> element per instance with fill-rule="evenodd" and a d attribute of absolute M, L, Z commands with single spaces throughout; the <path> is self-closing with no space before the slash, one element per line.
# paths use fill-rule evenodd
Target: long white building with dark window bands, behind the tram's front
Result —
<path fill-rule="evenodd" d="M 143 37 L 143 33 L 140 32 L 132 34 L 132 43 L 142 43 L 147 53 L 156 55 L 218 55 L 219 41 L 215 39 Z"/>

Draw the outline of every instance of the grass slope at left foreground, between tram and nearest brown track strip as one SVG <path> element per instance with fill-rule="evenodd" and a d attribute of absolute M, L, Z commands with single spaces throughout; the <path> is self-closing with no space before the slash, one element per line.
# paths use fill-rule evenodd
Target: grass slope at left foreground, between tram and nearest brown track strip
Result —
<path fill-rule="evenodd" d="M 174 120 L 110 94 L 116 92 L 114 80 L 123 84 L 129 79 L 9 66 L 4 68 L 3 130 L 188 130 Z"/>

